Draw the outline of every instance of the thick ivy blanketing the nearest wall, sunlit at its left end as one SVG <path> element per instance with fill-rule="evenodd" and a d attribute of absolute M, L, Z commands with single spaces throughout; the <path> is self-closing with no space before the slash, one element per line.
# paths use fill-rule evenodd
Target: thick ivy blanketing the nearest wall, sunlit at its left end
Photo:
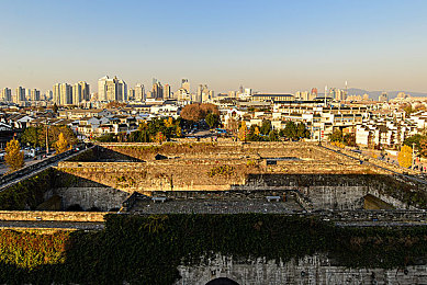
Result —
<path fill-rule="evenodd" d="M 179 264 L 221 252 L 288 261 L 327 253 L 351 267 L 405 267 L 427 256 L 427 228 L 338 228 L 285 215 L 108 215 L 94 232 L 0 231 L 0 283 L 172 284 Z"/>

